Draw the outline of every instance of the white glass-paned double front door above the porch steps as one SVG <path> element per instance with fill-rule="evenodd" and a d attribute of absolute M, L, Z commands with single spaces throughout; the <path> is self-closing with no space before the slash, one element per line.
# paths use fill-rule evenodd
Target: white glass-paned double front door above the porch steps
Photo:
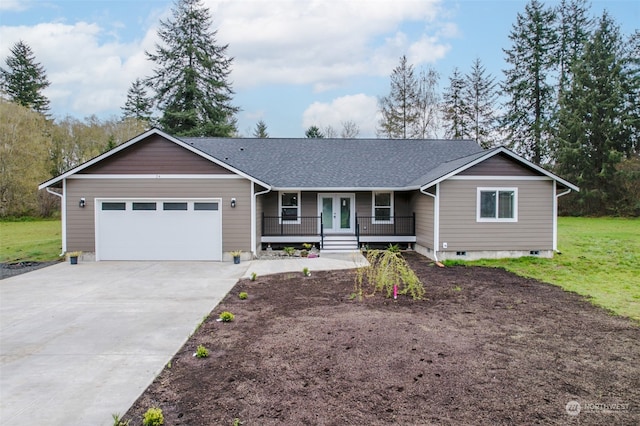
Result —
<path fill-rule="evenodd" d="M 355 233 L 355 194 L 318 194 L 325 234 Z"/>

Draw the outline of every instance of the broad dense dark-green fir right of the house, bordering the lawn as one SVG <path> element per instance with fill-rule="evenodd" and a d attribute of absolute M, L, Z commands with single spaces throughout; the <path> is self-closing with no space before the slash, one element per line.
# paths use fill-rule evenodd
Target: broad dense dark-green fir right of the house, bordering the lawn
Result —
<path fill-rule="evenodd" d="M 629 152 L 632 129 L 620 30 L 605 12 L 574 63 L 573 81 L 560 99 L 557 170 L 581 186 L 579 213 L 619 213 L 624 195 L 616 166 Z"/>

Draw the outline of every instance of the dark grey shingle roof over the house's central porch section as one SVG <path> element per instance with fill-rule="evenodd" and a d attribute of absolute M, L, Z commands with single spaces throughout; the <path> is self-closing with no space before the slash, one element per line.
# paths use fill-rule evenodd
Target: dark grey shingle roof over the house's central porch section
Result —
<path fill-rule="evenodd" d="M 417 187 L 486 153 L 470 140 L 180 139 L 274 188 Z"/>

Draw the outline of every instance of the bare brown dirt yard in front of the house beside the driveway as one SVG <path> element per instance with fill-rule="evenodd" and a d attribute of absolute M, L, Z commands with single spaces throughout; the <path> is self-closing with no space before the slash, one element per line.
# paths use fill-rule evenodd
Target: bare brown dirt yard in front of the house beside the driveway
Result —
<path fill-rule="evenodd" d="M 640 424 L 637 323 L 503 270 L 405 257 L 425 300 L 353 300 L 353 270 L 238 282 L 124 418 L 160 407 L 165 425 Z M 235 321 L 217 322 L 222 311 Z M 193 356 L 200 344 L 208 358 Z"/>

